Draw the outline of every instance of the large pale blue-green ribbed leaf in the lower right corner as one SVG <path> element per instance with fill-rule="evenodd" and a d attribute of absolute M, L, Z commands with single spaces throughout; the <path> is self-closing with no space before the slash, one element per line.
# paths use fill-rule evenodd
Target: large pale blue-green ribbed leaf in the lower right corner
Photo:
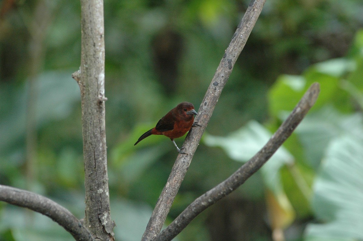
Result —
<path fill-rule="evenodd" d="M 312 200 L 322 224 L 306 228 L 306 241 L 363 240 L 363 140 L 351 135 L 329 145 Z"/>

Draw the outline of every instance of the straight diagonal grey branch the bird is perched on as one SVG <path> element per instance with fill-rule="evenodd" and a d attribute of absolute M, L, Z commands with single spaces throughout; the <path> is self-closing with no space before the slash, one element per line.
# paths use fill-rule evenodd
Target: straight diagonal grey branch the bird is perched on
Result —
<path fill-rule="evenodd" d="M 234 63 L 236 63 L 238 56 L 245 46 L 253 26 L 256 24 L 258 16 L 260 16 L 265 2 L 266 0 L 252 0 L 238 25 L 236 32 L 233 34 L 232 40 L 225 50 L 224 56 L 217 67 L 212 82 L 199 107 L 196 121 L 198 121 L 198 124 L 201 126 L 193 128 L 193 131 L 189 132 L 187 138 L 185 138 L 183 146 L 185 147 L 186 152 L 190 154 L 179 154 L 176 158 L 167 183 L 159 196 L 147 224 L 142 241 L 152 240 L 162 229 L 174 198 L 178 193 L 181 182 L 183 181 L 194 156 L 195 150 L 199 145 L 201 136 L 212 116 L 219 96 L 231 75 Z"/>

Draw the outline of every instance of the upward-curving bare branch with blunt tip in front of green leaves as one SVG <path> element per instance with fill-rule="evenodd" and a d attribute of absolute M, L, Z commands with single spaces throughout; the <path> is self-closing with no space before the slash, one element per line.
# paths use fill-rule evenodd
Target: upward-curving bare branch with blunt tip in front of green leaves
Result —
<path fill-rule="evenodd" d="M 282 143 L 284 143 L 291 133 L 293 133 L 309 109 L 315 104 L 319 92 L 319 84 L 312 84 L 309 90 L 306 91 L 305 95 L 291 112 L 289 117 L 287 117 L 284 123 L 282 123 L 282 125 L 272 135 L 267 144 L 262 147 L 262 149 L 258 151 L 256 155 L 254 155 L 248 162 L 241 166 L 229 178 L 194 200 L 154 240 L 172 240 L 172 238 L 179 234 L 181 230 L 183 230 L 197 215 L 199 215 L 199 213 L 203 212 L 206 208 L 236 190 L 252 174 L 256 173 L 256 171 L 268 161 L 268 159 L 275 153 Z"/>

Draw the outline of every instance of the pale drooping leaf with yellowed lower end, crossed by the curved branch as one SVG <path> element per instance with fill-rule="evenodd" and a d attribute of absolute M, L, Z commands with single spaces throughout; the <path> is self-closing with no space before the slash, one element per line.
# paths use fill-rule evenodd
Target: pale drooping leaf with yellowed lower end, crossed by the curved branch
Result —
<path fill-rule="evenodd" d="M 205 136 L 204 142 L 209 146 L 220 146 L 232 159 L 247 162 L 270 139 L 272 134 L 257 121 L 250 121 L 246 126 L 227 137 Z M 282 186 L 280 169 L 291 164 L 293 156 L 280 147 L 261 168 L 267 192 L 268 210 L 272 228 L 286 228 L 294 220 L 295 212 Z M 270 195 L 272 194 L 272 195 Z"/>

